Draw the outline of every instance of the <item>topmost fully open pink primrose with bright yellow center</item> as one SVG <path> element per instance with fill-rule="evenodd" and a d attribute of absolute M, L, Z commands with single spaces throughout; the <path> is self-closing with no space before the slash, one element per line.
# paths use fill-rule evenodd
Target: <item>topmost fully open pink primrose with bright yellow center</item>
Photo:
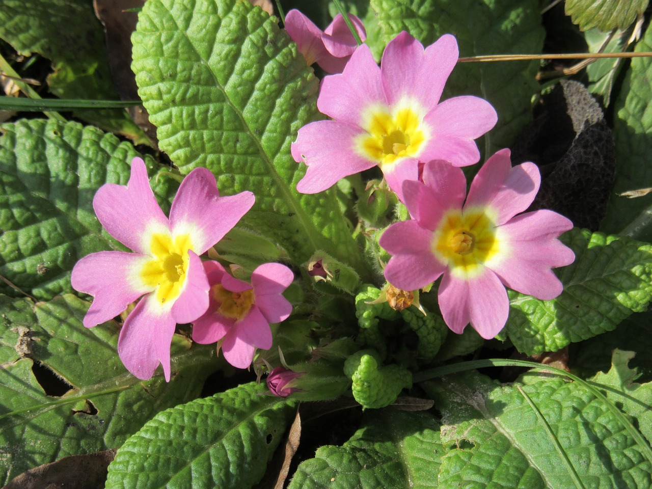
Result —
<path fill-rule="evenodd" d="M 297 190 L 321 192 L 379 166 L 402 199 L 402 182 L 417 180 L 419 161 L 477 162 L 474 140 L 496 124 L 497 115 L 477 96 L 439 102 L 457 59 L 451 35 L 424 50 L 402 32 L 387 44 L 380 67 L 369 48 L 359 46 L 342 74 L 321 82 L 317 106 L 334 120 L 303 126 L 292 143 L 293 158 L 308 165 Z"/>

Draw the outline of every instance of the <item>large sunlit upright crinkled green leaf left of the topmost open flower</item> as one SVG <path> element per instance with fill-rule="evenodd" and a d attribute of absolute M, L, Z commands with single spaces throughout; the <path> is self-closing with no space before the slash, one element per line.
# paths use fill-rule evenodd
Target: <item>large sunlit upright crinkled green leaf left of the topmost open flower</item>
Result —
<path fill-rule="evenodd" d="M 321 249 L 366 273 L 333 193 L 297 193 L 289 145 L 318 117 L 318 80 L 273 18 L 239 0 L 149 0 L 132 41 L 138 93 L 183 173 L 254 192 L 244 222 L 297 263 Z"/>

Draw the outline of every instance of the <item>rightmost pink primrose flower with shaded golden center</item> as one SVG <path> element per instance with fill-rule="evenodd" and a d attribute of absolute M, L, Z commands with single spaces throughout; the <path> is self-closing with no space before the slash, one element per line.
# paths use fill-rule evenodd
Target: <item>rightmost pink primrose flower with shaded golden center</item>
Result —
<path fill-rule="evenodd" d="M 380 245 L 393 255 L 385 278 L 404 290 L 422 288 L 443 274 L 439 308 L 449 328 L 466 325 L 482 338 L 503 329 L 509 312 L 505 286 L 542 300 L 563 289 L 551 268 L 575 256 L 557 239 L 572 222 L 552 211 L 524 213 L 539 191 L 533 163 L 512 168 L 509 149 L 487 160 L 466 195 L 460 168 L 428 162 L 423 181 L 406 181 L 411 220 L 389 226 Z M 504 284 L 504 285 L 503 285 Z"/>

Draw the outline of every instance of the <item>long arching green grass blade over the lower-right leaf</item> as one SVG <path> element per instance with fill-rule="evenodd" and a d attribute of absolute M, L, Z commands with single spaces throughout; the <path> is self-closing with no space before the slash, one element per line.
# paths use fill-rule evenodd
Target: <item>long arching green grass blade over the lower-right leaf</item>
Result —
<path fill-rule="evenodd" d="M 540 370 L 548 370 L 548 372 L 554 372 L 557 375 L 567 377 L 580 385 L 584 386 L 586 389 L 591 391 L 591 393 L 597 397 L 604 405 L 609 409 L 609 411 L 621 422 L 629 434 L 634 438 L 636 444 L 643 452 L 645 458 L 652 464 L 652 449 L 650 445 L 645 441 L 640 432 L 632 426 L 625 415 L 621 413 L 620 409 L 614 406 L 610 400 L 600 392 L 597 387 L 593 387 L 587 381 L 580 379 L 578 376 L 567 372 L 566 370 L 561 370 L 561 368 L 556 368 L 550 365 L 542 365 L 541 363 L 528 362 L 525 360 L 507 360 L 507 359 L 486 359 L 486 360 L 472 360 L 468 362 L 454 363 L 451 365 L 444 365 L 437 368 L 430 368 L 429 370 L 424 370 L 423 372 L 417 372 L 412 376 L 412 381 L 414 383 L 422 382 L 425 380 L 435 379 L 443 377 L 449 374 L 456 374 L 458 372 L 467 372 L 468 370 L 475 370 L 477 368 L 487 368 L 492 366 L 522 366 L 527 368 L 538 368 Z"/>

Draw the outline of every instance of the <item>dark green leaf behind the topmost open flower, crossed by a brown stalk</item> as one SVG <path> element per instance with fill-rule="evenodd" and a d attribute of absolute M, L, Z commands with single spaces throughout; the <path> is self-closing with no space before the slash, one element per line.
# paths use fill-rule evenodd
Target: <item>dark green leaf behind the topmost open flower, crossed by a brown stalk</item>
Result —
<path fill-rule="evenodd" d="M 424 46 L 445 33 L 456 36 L 460 57 L 489 54 L 539 54 L 543 47 L 536 0 L 371 0 L 385 41 L 408 31 Z M 531 121 L 531 98 L 539 92 L 537 61 L 464 63 L 452 72 L 445 96 L 477 95 L 498 113 L 485 136 L 485 156 L 509 147 Z"/>

